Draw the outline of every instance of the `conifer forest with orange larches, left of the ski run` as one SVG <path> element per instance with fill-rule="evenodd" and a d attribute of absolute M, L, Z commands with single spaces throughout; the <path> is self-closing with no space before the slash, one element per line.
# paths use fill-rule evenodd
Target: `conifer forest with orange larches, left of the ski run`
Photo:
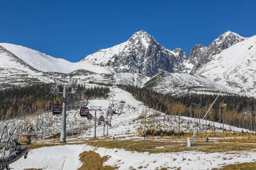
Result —
<path fill-rule="evenodd" d="M 51 84 L 32 85 L 0 91 L 0 120 L 50 111 L 53 104 L 62 104 L 63 94 L 49 92 Z M 78 109 L 86 98 L 108 97 L 109 88 L 79 85 L 77 94 L 67 94 L 67 110 Z"/>

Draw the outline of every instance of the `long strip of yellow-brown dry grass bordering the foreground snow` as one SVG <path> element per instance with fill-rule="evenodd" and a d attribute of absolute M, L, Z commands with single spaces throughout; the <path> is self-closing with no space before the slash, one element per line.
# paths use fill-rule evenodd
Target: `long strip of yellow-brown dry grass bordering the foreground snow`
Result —
<path fill-rule="evenodd" d="M 186 147 L 186 142 L 170 142 L 170 141 L 151 141 L 151 140 L 125 140 L 125 141 L 94 141 L 86 142 L 94 147 L 118 148 L 127 151 L 149 152 L 149 153 L 167 153 L 167 152 L 181 152 L 189 150 L 198 150 L 207 153 L 215 152 L 229 152 L 236 150 L 252 150 L 256 149 L 254 144 L 246 143 L 212 143 L 197 142 L 195 147 Z M 156 148 L 164 147 L 164 148 Z"/>

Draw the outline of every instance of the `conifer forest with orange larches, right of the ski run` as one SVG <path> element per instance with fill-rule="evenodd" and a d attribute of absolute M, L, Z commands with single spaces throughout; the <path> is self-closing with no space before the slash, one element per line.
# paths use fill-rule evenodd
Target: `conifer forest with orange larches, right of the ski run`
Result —
<path fill-rule="evenodd" d="M 210 105 L 217 95 L 191 94 L 187 96 L 171 96 L 170 94 L 160 94 L 146 88 L 137 86 L 118 85 L 125 91 L 131 93 L 135 99 L 143 102 L 146 106 L 166 113 L 166 115 L 188 116 L 195 118 L 199 124 Z M 214 122 L 241 127 L 249 130 L 256 130 L 256 99 L 253 97 L 239 95 L 220 95 L 213 104 L 206 120 L 213 122 L 204 123 L 215 127 Z"/>

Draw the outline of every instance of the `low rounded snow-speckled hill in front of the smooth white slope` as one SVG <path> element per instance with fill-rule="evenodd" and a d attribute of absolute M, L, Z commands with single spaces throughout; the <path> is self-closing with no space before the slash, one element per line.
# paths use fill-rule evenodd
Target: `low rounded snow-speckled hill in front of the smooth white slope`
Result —
<path fill-rule="evenodd" d="M 170 95 L 218 94 L 224 84 L 218 85 L 199 75 L 163 73 L 151 77 L 144 87 Z M 231 91 L 224 90 L 223 93 L 230 94 Z"/>

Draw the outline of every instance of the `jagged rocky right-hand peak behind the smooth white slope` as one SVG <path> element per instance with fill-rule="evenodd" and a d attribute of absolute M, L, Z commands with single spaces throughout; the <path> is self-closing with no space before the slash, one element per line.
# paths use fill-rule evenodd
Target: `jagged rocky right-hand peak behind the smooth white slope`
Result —
<path fill-rule="evenodd" d="M 188 72 L 195 73 L 198 68 L 209 62 L 212 57 L 219 54 L 222 50 L 230 48 L 245 38 L 239 34 L 227 31 L 215 39 L 208 47 L 201 44 L 195 45 L 189 53 L 189 59 L 184 62 Z"/>

